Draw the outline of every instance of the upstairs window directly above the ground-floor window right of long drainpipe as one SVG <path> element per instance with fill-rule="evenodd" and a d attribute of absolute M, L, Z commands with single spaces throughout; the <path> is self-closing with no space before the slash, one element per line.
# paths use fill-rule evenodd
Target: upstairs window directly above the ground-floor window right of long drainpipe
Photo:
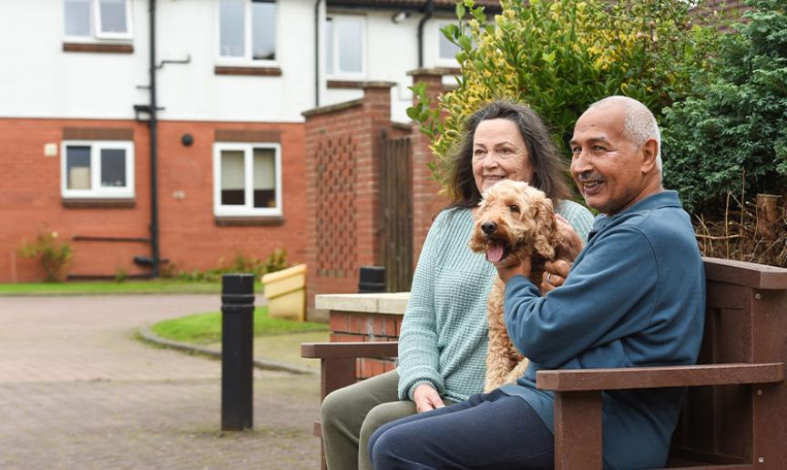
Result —
<path fill-rule="evenodd" d="M 276 60 L 276 2 L 220 0 L 219 56 L 242 61 Z"/>

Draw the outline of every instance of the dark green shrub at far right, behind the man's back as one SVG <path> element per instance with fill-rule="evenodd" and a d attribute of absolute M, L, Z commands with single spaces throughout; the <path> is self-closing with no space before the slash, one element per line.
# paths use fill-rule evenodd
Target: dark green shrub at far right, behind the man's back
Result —
<path fill-rule="evenodd" d="M 690 209 L 719 212 L 729 192 L 787 188 L 787 15 L 754 0 L 721 40 L 710 80 L 665 114 L 664 177 Z M 721 209 L 720 209 L 721 208 Z"/>

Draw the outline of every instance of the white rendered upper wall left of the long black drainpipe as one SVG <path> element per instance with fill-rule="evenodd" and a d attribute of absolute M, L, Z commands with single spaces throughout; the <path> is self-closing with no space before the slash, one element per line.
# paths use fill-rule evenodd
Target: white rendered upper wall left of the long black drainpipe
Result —
<path fill-rule="evenodd" d="M 147 94 L 147 36 L 135 2 L 134 54 L 63 52 L 61 0 L 0 2 L 0 116 L 133 117 Z M 144 56 L 143 56 L 144 55 Z"/>

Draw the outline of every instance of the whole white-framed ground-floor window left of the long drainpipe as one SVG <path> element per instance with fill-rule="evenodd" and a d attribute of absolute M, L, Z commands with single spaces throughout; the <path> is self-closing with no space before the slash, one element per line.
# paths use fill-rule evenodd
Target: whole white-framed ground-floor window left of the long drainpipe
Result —
<path fill-rule="evenodd" d="M 67 140 L 61 152 L 64 199 L 134 198 L 134 144 Z"/>

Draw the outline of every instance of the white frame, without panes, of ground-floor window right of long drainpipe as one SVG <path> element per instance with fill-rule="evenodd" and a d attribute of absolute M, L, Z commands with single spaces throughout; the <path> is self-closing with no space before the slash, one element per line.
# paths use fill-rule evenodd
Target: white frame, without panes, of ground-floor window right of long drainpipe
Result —
<path fill-rule="evenodd" d="M 276 207 L 254 207 L 254 148 L 272 148 L 274 151 L 274 165 L 276 168 Z M 243 152 L 243 187 L 246 204 L 222 205 L 221 204 L 221 151 L 236 150 Z M 238 143 L 215 142 L 213 144 L 213 214 L 216 217 L 281 217 L 281 144 L 271 142 Z"/>

